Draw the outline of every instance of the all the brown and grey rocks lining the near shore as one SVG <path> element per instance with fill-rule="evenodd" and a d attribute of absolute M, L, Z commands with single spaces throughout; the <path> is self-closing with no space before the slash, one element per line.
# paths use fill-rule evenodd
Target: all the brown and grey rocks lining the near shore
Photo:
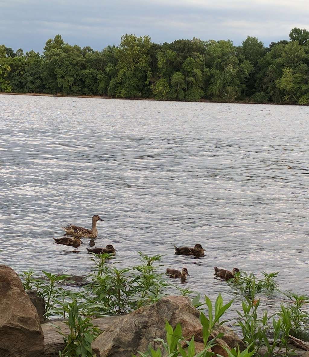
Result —
<path fill-rule="evenodd" d="M 0 265 L 0 357 L 59 356 L 65 342 L 58 331 L 66 335 L 69 327 L 65 320 L 44 322 L 42 300 L 34 291 L 25 292 L 13 269 Z M 155 347 L 156 339 L 165 339 L 168 321 L 173 328 L 180 323 L 187 340 L 194 336 L 195 351 L 199 352 L 204 348 L 199 317 L 200 311 L 188 297 L 166 296 L 129 314 L 92 319 L 101 333 L 91 347 L 97 357 L 131 357 L 136 351 L 146 351 L 149 344 Z M 219 333 L 223 336 L 216 340 L 211 352 L 228 357 L 224 347 L 245 350 L 244 342 L 229 326 L 215 326 L 209 338 Z M 301 349 L 296 349 L 295 354 L 309 357 L 309 352 Z"/>

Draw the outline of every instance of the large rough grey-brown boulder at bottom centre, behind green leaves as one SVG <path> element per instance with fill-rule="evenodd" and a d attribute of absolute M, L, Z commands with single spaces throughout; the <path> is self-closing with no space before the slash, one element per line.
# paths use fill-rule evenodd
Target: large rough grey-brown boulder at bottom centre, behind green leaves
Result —
<path fill-rule="evenodd" d="M 167 320 L 173 328 L 180 323 L 183 336 L 188 340 L 193 335 L 201 336 L 202 327 L 199 320 L 199 311 L 191 305 L 188 297 L 168 296 L 151 306 L 142 307 L 130 314 L 123 316 L 113 323 L 92 343 L 93 352 L 98 357 L 131 357 L 131 353 L 136 351 L 145 352 L 149 343 L 153 344 L 155 338 L 165 340 L 165 321 Z M 224 327 L 220 328 L 224 330 Z M 226 328 L 229 336 L 230 329 Z M 219 331 L 214 331 L 215 336 Z M 202 348 L 201 337 L 196 336 L 196 350 Z M 236 336 L 236 335 L 235 335 Z M 236 341 L 229 341 L 230 344 L 242 344 L 238 336 Z M 219 341 L 220 342 L 220 341 Z M 222 346 L 229 346 L 222 337 Z M 156 343 L 158 345 L 158 343 Z M 222 347 L 216 347 L 218 353 L 225 351 Z M 223 354 L 223 356 L 226 356 Z"/>

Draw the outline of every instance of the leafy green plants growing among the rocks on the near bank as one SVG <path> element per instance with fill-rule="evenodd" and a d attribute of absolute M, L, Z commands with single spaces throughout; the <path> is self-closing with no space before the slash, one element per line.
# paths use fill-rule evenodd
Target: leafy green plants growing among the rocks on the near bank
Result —
<path fill-rule="evenodd" d="M 116 268 L 112 255 L 93 255 L 93 271 L 85 278 L 78 291 L 76 287 L 72 291 L 71 287 L 65 285 L 70 278 L 66 275 L 46 271 L 40 274 L 25 271 L 21 274 L 25 290 L 35 290 L 44 298 L 46 317 L 68 319 L 66 324 L 70 332 L 64 336 L 66 347 L 60 356 L 92 356 L 91 342 L 100 331 L 91 322 L 91 317 L 134 311 L 171 294 L 172 287 L 175 294 L 175 285 L 171 286 L 158 270 L 161 256 L 139 254 L 140 265 L 121 269 Z M 235 312 L 238 317 L 229 321 L 241 329 L 243 341 L 248 346 L 246 352 L 228 351 L 230 357 L 250 357 L 254 353 L 259 355 L 262 347 L 266 357 L 290 356 L 289 335 L 296 337 L 308 330 L 309 314 L 306 305 L 309 297 L 288 291 L 281 293 L 275 282 L 278 272 L 262 272 L 262 275 L 263 278 L 258 279 L 252 273 L 240 272 L 228 281 L 231 289 L 235 289 L 236 295 L 243 299 L 241 310 Z M 189 296 L 193 306 L 201 312 L 205 347 L 203 353 L 195 354 L 193 337 L 192 341 L 187 341 L 189 349 L 186 355 L 187 352 L 181 345 L 186 338 L 181 336 L 181 326 L 176 326 L 173 330 L 166 324 L 166 341 L 158 341 L 161 345 L 159 343 L 160 347 L 156 351 L 150 348 L 148 352 L 141 351 L 140 356 L 161 356 L 161 347 L 168 351 L 169 356 L 210 356 L 207 351 L 215 343 L 215 340 L 209 340 L 211 332 L 216 323 L 220 323 L 224 313 L 233 308 L 233 300 L 224 305 L 219 294 L 213 308 L 207 296 L 201 301 L 199 295 L 194 296 L 194 292 L 188 289 L 179 288 L 178 292 Z M 273 314 L 269 314 L 267 310 L 261 311 L 259 294 L 275 299 L 274 292 L 279 293 L 280 300 L 283 300 L 279 311 Z M 59 333 L 63 334 L 61 330 Z"/>

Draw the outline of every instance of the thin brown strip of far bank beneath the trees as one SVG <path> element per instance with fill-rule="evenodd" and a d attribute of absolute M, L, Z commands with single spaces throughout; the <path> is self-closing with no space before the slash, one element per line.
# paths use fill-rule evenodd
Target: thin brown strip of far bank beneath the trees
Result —
<path fill-rule="evenodd" d="M 215 100 L 200 99 L 199 101 L 185 101 L 185 100 L 156 100 L 154 98 L 116 98 L 104 95 L 65 95 L 65 94 L 47 94 L 47 93 L 7 93 L 0 92 L 0 95 L 31 95 L 38 97 L 64 97 L 64 98 L 93 98 L 93 99 L 122 99 L 122 100 L 152 100 L 156 102 L 181 102 L 181 103 L 225 103 L 225 104 L 260 104 L 260 105 L 291 105 L 291 106 L 308 106 L 309 104 L 291 104 L 291 103 L 258 103 L 258 102 L 246 102 L 246 101 L 235 101 L 235 102 L 219 102 Z"/>

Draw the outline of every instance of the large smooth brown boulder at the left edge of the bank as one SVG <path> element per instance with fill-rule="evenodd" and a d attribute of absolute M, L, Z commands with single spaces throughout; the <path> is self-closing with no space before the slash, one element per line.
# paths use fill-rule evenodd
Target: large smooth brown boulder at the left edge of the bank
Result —
<path fill-rule="evenodd" d="M 0 265 L 0 356 L 42 357 L 38 312 L 13 269 Z"/>

